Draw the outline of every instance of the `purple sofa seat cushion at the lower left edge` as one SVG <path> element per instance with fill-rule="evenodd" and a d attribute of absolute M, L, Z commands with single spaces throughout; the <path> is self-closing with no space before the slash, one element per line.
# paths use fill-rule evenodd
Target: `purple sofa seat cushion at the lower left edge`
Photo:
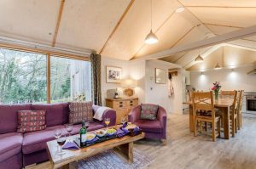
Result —
<path fill-rule="evenodd" d="M 21 152 L 22 134 L 9 132 L 0 135 L 0 162 Z"/>

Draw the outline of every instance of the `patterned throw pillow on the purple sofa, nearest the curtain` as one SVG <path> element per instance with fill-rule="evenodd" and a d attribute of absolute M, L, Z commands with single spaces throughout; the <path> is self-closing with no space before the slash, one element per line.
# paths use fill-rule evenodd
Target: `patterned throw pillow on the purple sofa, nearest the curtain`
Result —
<path fill-rule="evenodd" d="M 71 102 L 69 110 L 69 123 L 77 124 L 93 120 L 92 102 Z"/>

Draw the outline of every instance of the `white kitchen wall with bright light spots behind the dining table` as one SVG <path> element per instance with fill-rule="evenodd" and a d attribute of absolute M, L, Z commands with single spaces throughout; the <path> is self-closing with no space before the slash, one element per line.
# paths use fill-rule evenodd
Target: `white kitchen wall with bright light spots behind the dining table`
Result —
<path fill-rule="evenodd" d="M 191 72 L 191 85 L 196 90 L 209 90 L 213 82 L 220 82 L 222 90 L 238 90 L 243 89 L 247 92 L 256 92 L 256 75 L 247 75 L 247 72 L 253 70 L 254 67 L 240 67 L 231 71 L 209 70 L 203 72 Z"/>

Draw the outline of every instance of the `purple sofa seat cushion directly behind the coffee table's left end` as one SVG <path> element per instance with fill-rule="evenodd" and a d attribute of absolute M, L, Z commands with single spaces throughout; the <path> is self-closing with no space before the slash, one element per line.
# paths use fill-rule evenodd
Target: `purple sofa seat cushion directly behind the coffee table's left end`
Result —
<path fill-rule="evenodd" d="M 37 132 L 26 132 L 23 138 L 22 152 L 23 154 L 30 154 L 39 150 L 46 149 L 46 142 L 54 140 L 54 130 L 57 128 L 66 129 L 62 126 L 47 127 L 45 130 Z"/>

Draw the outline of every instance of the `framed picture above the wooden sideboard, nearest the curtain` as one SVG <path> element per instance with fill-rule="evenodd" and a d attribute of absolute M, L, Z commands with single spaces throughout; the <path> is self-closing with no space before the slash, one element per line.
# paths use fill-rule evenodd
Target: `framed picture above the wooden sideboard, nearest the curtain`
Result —
<path fill-rule="evenodd" d="M 122 68 L 114 67 L 114 66 L 107 66 L 107 69 L 106 69 L 107 82 L 120 83 L 121 76 L 122 76 Z"/>

